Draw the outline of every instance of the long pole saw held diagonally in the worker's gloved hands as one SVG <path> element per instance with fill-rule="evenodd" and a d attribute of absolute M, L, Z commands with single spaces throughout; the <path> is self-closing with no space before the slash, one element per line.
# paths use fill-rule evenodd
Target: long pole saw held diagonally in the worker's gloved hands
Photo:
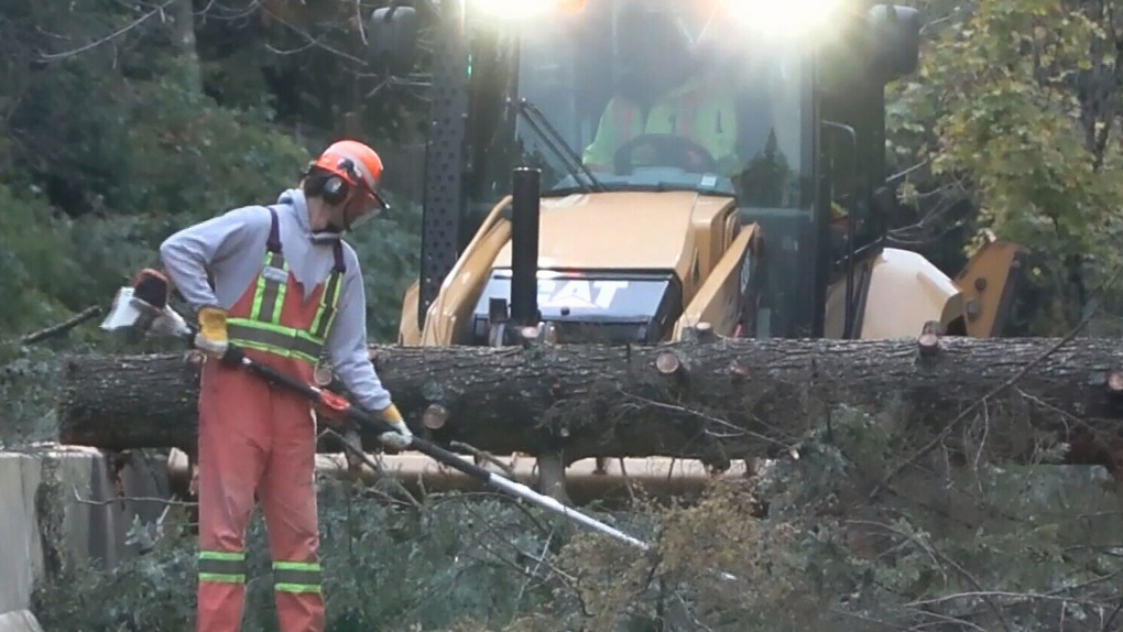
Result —
<path fill-rule="evenodd" d="M 145 268 L 137 274 L 133 286 L 124 286 L 118 290 L 117 295 L 113 297 L 113 306 L 109 315 L 101 323 L 101 328 L 107 331 L 133 328 L 146 335 L 171 336 L 194 348 L 197 329 L 189 324 L 182 315 L 167 304 L 167 277 L 155 269 Z M 389 423 L 367 414 L 362 409 L 351 404 L 346 397 L 325 388 L 304 384 L 270 366 L 256 363 L 247 358 L 236 346 L 231 345 L 229 347 L 221 361 L 228 365 L 240 365 L 264 379 L 303 395 L 310 402 L 319 404 L 331 411 L 335 415 L 348 419 L 360 427 L 369 428 L 378 433 L 394 431 Z M 521 483 L 509 480 L 494 471 L 489 471 L 430 441 L 414 437 L 409 448 L 422 452 L 492 487 L 557 512 L 574 522 L 611 535 L 643 551 L 649 551 L 651 548 L 647 542 L 632 538 L 572 507 L 567 507 L 558 501 L 539 494 Z M 365 457 L 366 455 L 363 456 Z"/>

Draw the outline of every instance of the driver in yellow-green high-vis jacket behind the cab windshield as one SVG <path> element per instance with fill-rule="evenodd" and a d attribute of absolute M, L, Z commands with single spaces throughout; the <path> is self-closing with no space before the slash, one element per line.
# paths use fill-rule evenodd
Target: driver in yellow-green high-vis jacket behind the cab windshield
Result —
<path fill-rule="evenodd" d="M 613 171 L 614 154 L 629 140 L 646 134 L 670 134 L 705 148 L 718 173 L 738 171 L 734 93 L 696 54 L 695 43 L 678 18 L 666 8 L 637 3 L 621 11 L 618 24 L 621 79 L 593 141 L 585 148 L 583 163 L 592 171 Z M 703 171 L 704 158 L 692 158 L 692 164 L 678 166 Z"/>

